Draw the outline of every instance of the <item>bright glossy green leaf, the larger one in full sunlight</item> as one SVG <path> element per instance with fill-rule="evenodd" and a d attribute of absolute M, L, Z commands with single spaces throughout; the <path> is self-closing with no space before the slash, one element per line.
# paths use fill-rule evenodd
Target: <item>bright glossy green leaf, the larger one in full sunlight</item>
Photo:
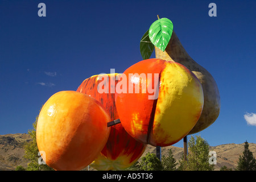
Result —
<path fill-rule="evenodd" d="M 159 48 L 161 51 L 164 51 L 169 43 L 172 30 L 174 30 L 174 25 L 170 19 L 161 18 L 156 20 L 151 24 L 148 31 L 148 36 L 151 42 Z"/>

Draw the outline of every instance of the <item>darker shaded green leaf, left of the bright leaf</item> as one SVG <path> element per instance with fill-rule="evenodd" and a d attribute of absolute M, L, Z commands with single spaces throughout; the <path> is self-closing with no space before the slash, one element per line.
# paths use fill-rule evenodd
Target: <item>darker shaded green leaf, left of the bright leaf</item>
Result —
<path fill-rule="evenodd" d="M 141 55 L 143 60 L 150 59 L 152 52 L 154 51 L 155 46 L 150 41 L 148 36 L 148 31 L 142 36 L 141 43 L 139 44 L 139 49 L 141 50 Z"/>

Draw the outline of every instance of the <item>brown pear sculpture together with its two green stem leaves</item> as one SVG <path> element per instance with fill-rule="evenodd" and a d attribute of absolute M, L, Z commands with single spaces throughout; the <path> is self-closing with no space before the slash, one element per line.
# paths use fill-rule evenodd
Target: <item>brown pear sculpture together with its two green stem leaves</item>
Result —
<path fill-rule="evenodd" d="M 189 132 L 189 134 L 194 134 L 206 129 L 216 121 L 220 113 L 220 93 L 218 92 L 217 84 L 212 75 L 188 55 L 172 29 L 173 25 L 170 20 L 167 18 L 158 19 L 143 36 L 142 40 L 144 39 L 146 41 L 142 43 L 146 44 L 144 46 L 145 48 L 146 46 L 150 48 L 150 50 L 146 52 L 150 53 L 149 56 L 155 48 L 156 58 L 180 63 L 192 71 L 199 79 L 204 91 L 204 107 L 199 121 L 197 121 L 195 127 Z M 163 40 L 162 44 L 160 43 L 161 41 L 157 42 L 157 44 L 154 42 L 154 40 L 158 40 L 156 36 L 154 37 L 154 34 L 152 34 L 154 31 L 158 31 L 156 36 L 161 35 L 160 38 Z M 166 33 L 162 34 L 162 32 L 168 32 L 169 35 Z"/>

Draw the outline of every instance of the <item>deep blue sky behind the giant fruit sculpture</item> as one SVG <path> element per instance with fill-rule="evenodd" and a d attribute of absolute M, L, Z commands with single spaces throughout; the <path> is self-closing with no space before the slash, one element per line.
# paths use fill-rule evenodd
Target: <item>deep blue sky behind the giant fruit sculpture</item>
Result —
<path fill-rule="evenodd" d="M 46 17 L 38 16 L 40 2 Z M 216 17 L 208 15 L 211 2 Z M 256 113 L 255 9 L 254 0 L 0 0 L 0 134 L 27 133 L 52 94 L 141 61 L 139 42 L 159 15 L 172 20 L 184 48 L 220 91 L 219 117 L 194 136 L 210 146 L 256 143 L 256 126 L 244 118 Z M 255 123 L 255 115 L 247 120 Z"/>

